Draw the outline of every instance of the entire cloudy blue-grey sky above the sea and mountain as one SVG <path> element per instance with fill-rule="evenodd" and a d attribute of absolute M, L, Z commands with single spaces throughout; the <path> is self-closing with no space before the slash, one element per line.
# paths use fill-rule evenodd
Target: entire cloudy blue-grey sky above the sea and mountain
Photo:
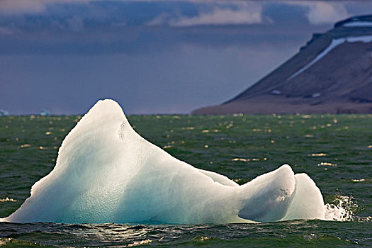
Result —
<path fill-rule="evenodd" d="M 190 113 L 363 14 L 372 1 L 0 0 L 0 110 Z"/>

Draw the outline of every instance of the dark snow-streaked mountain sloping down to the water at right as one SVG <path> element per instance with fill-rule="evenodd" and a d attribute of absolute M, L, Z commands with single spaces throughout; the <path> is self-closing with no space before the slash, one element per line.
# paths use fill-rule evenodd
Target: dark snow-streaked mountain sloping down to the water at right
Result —
<path fill-rule="evenodd" d="M 235 98 L 192 113 L 372 113 L 372 16 L 315 33 L 295 56 Z"/>

